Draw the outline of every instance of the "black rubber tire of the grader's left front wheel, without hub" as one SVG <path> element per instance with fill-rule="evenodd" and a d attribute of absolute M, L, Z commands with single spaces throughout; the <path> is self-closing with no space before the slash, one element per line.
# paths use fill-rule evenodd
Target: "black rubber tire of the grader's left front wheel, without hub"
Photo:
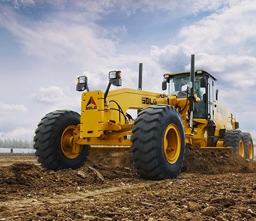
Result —
<path fill-rule="evenodd" d="M 72 110 L 55 110 L 42 118 L 34 136 L 35 156 L 42 167 L 57 171 L 64 168 L 76 169 L 84 165 L 89 145 L 82 146 L 79 156 L 70 159 L 63 153 L 60 143 L 63 131 L 79 123 L 80 115 Z"/>

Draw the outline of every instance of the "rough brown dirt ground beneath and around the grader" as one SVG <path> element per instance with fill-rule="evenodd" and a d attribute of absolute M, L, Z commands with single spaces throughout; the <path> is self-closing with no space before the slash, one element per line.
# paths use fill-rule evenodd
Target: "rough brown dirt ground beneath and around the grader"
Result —
<path fill-rule="evenodd" d="M 174 180 L 148 181 L 130 153 L 47 171 L 32 155 L 0 155 L 1 220 L 256 220 L 256 163 L 187 149 Z"/>

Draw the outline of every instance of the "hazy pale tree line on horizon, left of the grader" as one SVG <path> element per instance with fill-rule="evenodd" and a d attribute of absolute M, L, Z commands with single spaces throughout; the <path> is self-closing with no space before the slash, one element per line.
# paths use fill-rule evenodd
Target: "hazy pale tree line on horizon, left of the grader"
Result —
<path fill-rule="evenodd" d="M 17 138 L 0 138 L 0 148 L 32 148 L 33 140 L 27 141 L 27 139 Z"/>

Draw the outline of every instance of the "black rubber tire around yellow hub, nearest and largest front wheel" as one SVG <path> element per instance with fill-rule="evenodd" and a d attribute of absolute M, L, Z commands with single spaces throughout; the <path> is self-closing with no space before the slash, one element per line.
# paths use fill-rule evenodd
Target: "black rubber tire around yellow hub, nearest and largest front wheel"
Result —
<path fill-rule="evenodd" d="M 163 137 L 169 125 L 180 133 L 180 152 L 170 164 L 163 150 Z M 179 112 L 168 105 L 152 105 L 141 110 L 132 129 L 132 160 L 136 172 L 144 178 L 162 180 L 176 178 L 181 172 L 185 153 L 184 127 Z"/>

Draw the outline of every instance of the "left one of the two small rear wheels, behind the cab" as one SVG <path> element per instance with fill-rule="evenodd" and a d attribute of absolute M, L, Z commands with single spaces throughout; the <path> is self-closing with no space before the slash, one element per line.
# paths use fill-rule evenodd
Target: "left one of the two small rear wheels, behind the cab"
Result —
<path fill-rule="evenodd" d="M 241 151 L 240 142 L 243 142 L 243 145 L 245 144 L 243 133 L 240 130 L 227 130 L 225 132 L 223 146 L 232 146 L 234 153 L 245 157 L 245 148 L 243 148 L 243 151 Z"/>

